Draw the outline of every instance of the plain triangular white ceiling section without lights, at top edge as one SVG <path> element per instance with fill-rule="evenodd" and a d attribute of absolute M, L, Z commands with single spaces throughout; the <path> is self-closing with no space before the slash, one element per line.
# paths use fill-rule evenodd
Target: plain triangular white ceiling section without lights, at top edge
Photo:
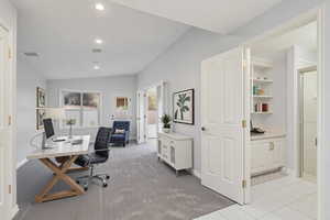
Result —
<path fill-rule="evenodd" d="M 110 1 L 110 0 L 108 0 Z M 151 14 L 227 34 L 282 0 L 111 0 Z"/>

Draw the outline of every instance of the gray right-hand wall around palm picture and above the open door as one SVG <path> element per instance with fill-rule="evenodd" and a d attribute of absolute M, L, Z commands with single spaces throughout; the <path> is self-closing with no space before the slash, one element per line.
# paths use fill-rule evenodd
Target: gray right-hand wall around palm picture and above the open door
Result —
<path fill-rule="evenodd" d="M 194 136 L 194 168 L 200 172 L 200 63 L 226 52 L 252 37 L 270 31 L 283 22 L 323 2 L 323 0 L 287 0 L 255 18 L 231 35 L 220 35 L 193 28 L 167 52 L 162 54 L 139 75 L 138 87 L 145 88 L 161 80 L 168 82 L 169 95 L 195 88 L 195 125 L 175 124 L 177 132 Z M 172 109 L 172 107 L 169 107 Z"/>

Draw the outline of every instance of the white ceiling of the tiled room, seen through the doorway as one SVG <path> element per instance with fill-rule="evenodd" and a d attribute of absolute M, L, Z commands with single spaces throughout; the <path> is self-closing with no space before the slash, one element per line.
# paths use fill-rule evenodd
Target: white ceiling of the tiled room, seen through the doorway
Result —
<path fill-rule="evenodd" d="M 310 53 L 317 52 L 317 22 L 308 23 L 283 35 L 272 36 L 252 47 L 252 53 L 258 56 L 268 56 L 287 50 L 293 45 L 302 47 Z"/>

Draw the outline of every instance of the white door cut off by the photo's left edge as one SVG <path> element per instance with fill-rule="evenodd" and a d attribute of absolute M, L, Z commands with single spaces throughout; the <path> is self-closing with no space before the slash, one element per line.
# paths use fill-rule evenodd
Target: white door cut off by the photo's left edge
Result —
<path fill-rule="evenodd" d="M 0 28 L 0 216 L 9 219 L 11 146 L 8 32 Z"/>

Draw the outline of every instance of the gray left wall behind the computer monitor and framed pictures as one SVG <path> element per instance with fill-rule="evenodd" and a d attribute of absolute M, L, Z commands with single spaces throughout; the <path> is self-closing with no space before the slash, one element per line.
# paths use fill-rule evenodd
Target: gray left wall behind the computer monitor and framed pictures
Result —
<path fill-rule="evenodd" d="M 30 140 L 36 131 L 36 87 L 46 87 L 46 80 L 31 66 L 18 61 L 18 163 L 22 162 L 33 150 Z"/>

